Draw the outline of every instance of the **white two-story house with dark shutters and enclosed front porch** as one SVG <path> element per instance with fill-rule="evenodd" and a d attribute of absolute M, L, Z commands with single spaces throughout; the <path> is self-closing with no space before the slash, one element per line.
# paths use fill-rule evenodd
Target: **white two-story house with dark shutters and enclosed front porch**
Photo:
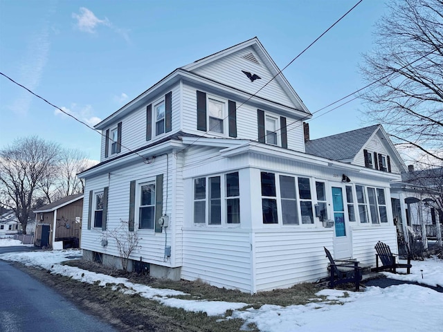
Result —
<path fill-rule="evenodd" d="M 255 293 L 326 277 L 323 246 L 365 264 L 377 241 L 397 252 L 405 167 L 385 131 L 309 141 L 309 118 L 257 38 L 177 68 L 96 125 L 84 257 L 118 266 L 107 232 L 123 225 L 152 276 Z"/>

